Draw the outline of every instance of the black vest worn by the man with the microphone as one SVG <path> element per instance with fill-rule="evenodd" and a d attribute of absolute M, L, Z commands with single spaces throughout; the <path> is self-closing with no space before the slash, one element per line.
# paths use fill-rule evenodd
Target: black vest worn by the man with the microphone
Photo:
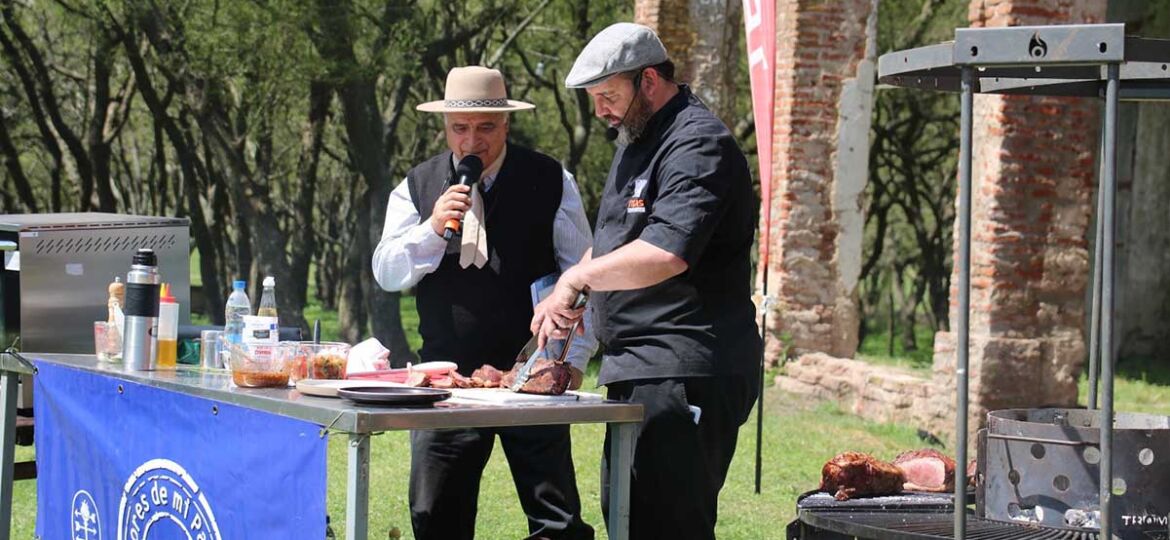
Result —
<path fill-rule="evenodd" d="M 406 174 L 419 222 L 454 182 L 452 153 L 428 159 Z M 509 369 L 532 335 L 529 285 L 556 272 L 552 224 L 560 207 L 560 164 L 508 145 L 503 167 L 483 195 L 488 263 L 460 268 L 456 236 L 435 271 L 415 288 L 425 361 L 446 360 L 469 374 L 484 364 Z M 476 184 L 476 189 L 479 189 Z"/>

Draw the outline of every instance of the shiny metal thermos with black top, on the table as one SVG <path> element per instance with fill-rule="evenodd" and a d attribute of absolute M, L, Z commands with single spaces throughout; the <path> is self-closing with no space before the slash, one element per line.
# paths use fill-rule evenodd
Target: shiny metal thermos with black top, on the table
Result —
<path fill-rule="evenodd" d="M 158 258 L 151 249 L 135 254 L 126 274 L 122 361 L 130 371 L 158 367 Z"/>

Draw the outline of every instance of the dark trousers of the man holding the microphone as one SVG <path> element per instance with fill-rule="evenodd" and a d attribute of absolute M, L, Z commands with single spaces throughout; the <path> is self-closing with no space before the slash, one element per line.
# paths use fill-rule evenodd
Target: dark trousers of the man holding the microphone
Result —
<path fill-rule="evenodd" d="M 411 521 L 419 540 L 475 536 L 480 477 L 495 436 L 508 457 L 531 539 L 592 539 L 581 521 L 567 425 L 411 432 Z"/>

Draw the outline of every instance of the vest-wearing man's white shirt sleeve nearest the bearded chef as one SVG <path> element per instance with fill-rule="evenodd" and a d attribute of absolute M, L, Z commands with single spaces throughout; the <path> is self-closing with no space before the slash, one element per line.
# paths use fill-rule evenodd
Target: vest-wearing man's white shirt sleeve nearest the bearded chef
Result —
<path fill-rule="evenodd" d="M 560 271 L 564 272 L 573 264 L 579 263 L 585 251 L 592 247 L 593 233 L 589 228 L 589 220 L 585 219 L 585 206 L 577 191 L 577 180 L 573 179 L 572 173 L 564 171 L 560 207 L 557 208 L 557 216 L 552 222 L 552 249 L 556 251 Z M 593 309 L 586 305 L 585 317 L 581 319 L 581 324 L 585 325 L 585 334 L 573 338 L 566 355 L 569 364 L 580 369 L 581 373 L 585 373 L 589 359 L 597 352 L 592 318 Z"/>

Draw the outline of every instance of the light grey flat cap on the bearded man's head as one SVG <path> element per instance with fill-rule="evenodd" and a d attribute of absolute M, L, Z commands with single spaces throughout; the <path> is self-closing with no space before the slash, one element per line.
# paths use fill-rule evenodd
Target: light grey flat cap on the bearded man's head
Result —
<path fill-rule="evenodd" d="M 666 62 L 666 47 L 654 30 L 633 22 L 618 22 L 593 36 L 573 69 L 565 88 L 590 88 L 613 75 Z"/>

